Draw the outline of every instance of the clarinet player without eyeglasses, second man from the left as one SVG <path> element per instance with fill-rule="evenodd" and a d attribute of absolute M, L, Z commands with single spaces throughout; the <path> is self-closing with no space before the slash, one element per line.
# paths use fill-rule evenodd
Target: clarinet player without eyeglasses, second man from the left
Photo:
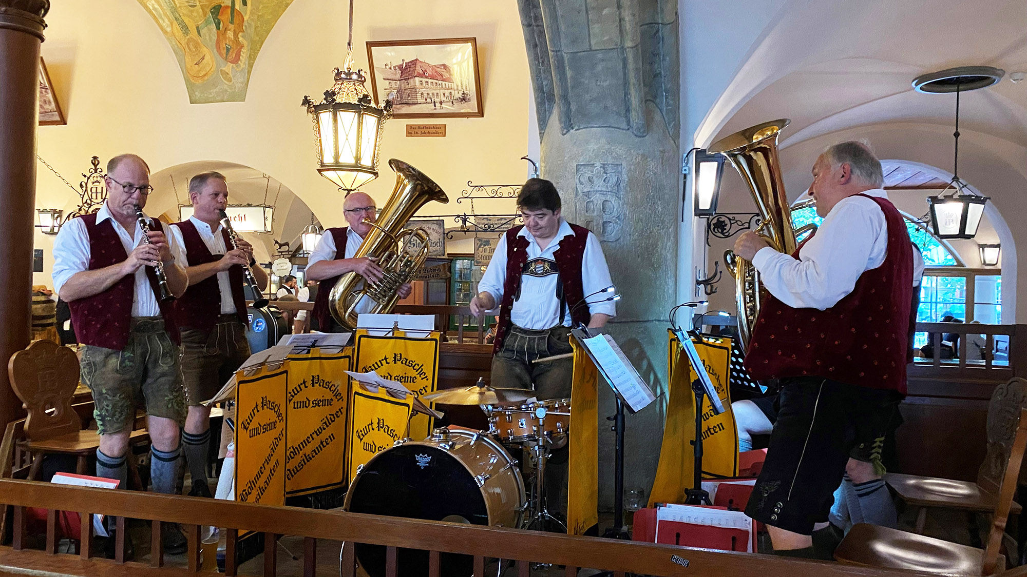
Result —
<path fill-rule="evenodd" d="M 211 408 L 200 403 L 212 398 L 250 356 L 242 293 L 245 269 L 252 269 L 261 291 L 267 285 L 267 273 L 254 266 L 249 242 L 238 238 L 238 247 L 231 248 L 230 233 L 221 224 L 228 206 L 223 175 L 201 172 L 190 179 L 189 200 L 193 215 L 168 227 L 179 249 L 176 258 L 187 264 L 189 274 L 189 288 L 175 303 L 175 318 L 182 328 L 182 374 L 189 393 L 182 440 L 192 477 L 189 494 L 211 497 L 206 476 Z"/>

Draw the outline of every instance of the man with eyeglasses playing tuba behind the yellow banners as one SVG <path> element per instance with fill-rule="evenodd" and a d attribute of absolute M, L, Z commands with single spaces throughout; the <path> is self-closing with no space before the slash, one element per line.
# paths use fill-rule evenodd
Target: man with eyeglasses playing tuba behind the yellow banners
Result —
<path fill-rule="evenodd" d="M 342 203 L 343 215 L 348 227 L 333 227 L 325 231 L 313 253 L 307 261 L 306 277 L 308 280 L 319 280 L 317 297 L 314 300 L 314 318 L 322 333 L 341 333 L 342 326 L 335 321 L 329 310 L 329 294 L 339 278 L 347 272 L 356 272 L 364 278 L 378 282 L 385 273 L 375 262 L 376 259 L 353 256 L 364 242 L 364 237 L 371 232 L 372 226 L 378 220 L 375 200 L 364 192 L 352 192 Z M 341 259 L 337 258 L 342 256 Z M 400 286 L 396 294 L 401 299 L 410 296 L 410 283 Z M 356 305 L 356 312 L 368 312 L 374 303 L 364 298 Z"/>

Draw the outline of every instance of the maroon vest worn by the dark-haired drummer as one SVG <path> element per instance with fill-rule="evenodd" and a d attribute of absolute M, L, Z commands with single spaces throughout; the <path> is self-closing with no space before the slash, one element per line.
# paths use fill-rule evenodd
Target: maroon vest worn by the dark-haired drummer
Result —
<path fill-rule="evenodd" d="M 496 340 L 492 346 L 493 354 L 499 352 L 503 346 L 503 339 L 510 326 L 510 309 L 514 308 L 514 301 L 517 299 L 519 288 L 521 288 L 521 275 L 524 273 L 524 266 L 528 264 L 529 240 L 525 236 L 518 235 L 523 228 L 524 225 L 520 225 L 506 231 L 506 280 L 503 282 L 503 300 L 499 308 L 499 322 L 496 324 Z M 584 302 L 581 261 L 584 258 L 584 245 L 588 241 L 588 229 L 571 225 L 571 230 L 574 231 L 574 234 L 560 240 L 560 247 L 554 251 L 553 258 L 557 261 L 557 270 L 560 271 L 564 298 L 571 311 L 571 323 L 588 324 L 588 319 L 592 318 L 588 307 L 586 305 L 578 306 Z M 562 318 L 560 322 L 563 322 Z"/>

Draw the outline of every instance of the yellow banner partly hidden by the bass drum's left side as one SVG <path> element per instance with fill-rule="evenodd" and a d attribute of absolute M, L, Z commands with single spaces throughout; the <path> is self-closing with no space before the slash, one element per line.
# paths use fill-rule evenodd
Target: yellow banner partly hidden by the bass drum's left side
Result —
<path fill-rule="evenodd" d="M 412 397 L 404 401 L 392 398 L 384 389 L 368 392 L 353 383 L 349 398 L 353 420 L 347 439 L 351 448 L 346 464 L 347 478 L 353 478 L 357 467 L 403 438 L 412 403 Z"/>

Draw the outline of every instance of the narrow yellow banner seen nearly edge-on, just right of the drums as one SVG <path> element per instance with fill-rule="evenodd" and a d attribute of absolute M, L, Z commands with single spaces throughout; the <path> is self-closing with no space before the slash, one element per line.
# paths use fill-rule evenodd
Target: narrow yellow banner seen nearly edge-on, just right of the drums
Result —
<path fill-rule="evenodd" d="M 567 534 L 584 535 L 599 523 L 599 371 L 571 339 L 574 376 L 568 435 Z"/>

